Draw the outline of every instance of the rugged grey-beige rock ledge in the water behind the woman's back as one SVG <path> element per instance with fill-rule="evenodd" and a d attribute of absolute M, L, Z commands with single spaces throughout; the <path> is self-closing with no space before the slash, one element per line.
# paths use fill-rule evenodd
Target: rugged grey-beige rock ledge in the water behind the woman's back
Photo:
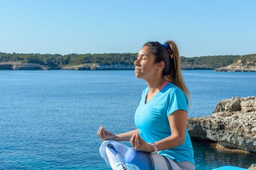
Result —
<path fill-rule="evenodd" d="M 188 131 L 192 139 L 256 153 L 256 97 L 223 100 L 212 116 L 188 118 Z"/>

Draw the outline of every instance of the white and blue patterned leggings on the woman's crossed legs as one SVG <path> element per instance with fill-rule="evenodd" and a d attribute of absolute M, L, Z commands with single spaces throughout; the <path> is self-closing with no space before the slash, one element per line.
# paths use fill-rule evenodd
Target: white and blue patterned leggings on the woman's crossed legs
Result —
<path fill-rule="evenodd" d="M 113 170 L 195 170 L 191 162 L 175 162 L 158 153 L 136 151 L 113 140 L 104 141 L 99 152 Z"/>

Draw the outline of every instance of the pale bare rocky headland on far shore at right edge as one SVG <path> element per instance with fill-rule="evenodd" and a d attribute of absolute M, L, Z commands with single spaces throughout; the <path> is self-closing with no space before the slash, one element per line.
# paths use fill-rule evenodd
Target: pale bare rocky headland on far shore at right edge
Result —
<path fill-rule="evenodd" d="M 214 70 L 229 71 L 229 72 L 236 72 L 236 71 L 254 72 L 256 71 L 256 62 L 248 61 L 248 60 L 238 60 L 236 63 L 231 64 L 227 67 L 215 68 Z"/>

